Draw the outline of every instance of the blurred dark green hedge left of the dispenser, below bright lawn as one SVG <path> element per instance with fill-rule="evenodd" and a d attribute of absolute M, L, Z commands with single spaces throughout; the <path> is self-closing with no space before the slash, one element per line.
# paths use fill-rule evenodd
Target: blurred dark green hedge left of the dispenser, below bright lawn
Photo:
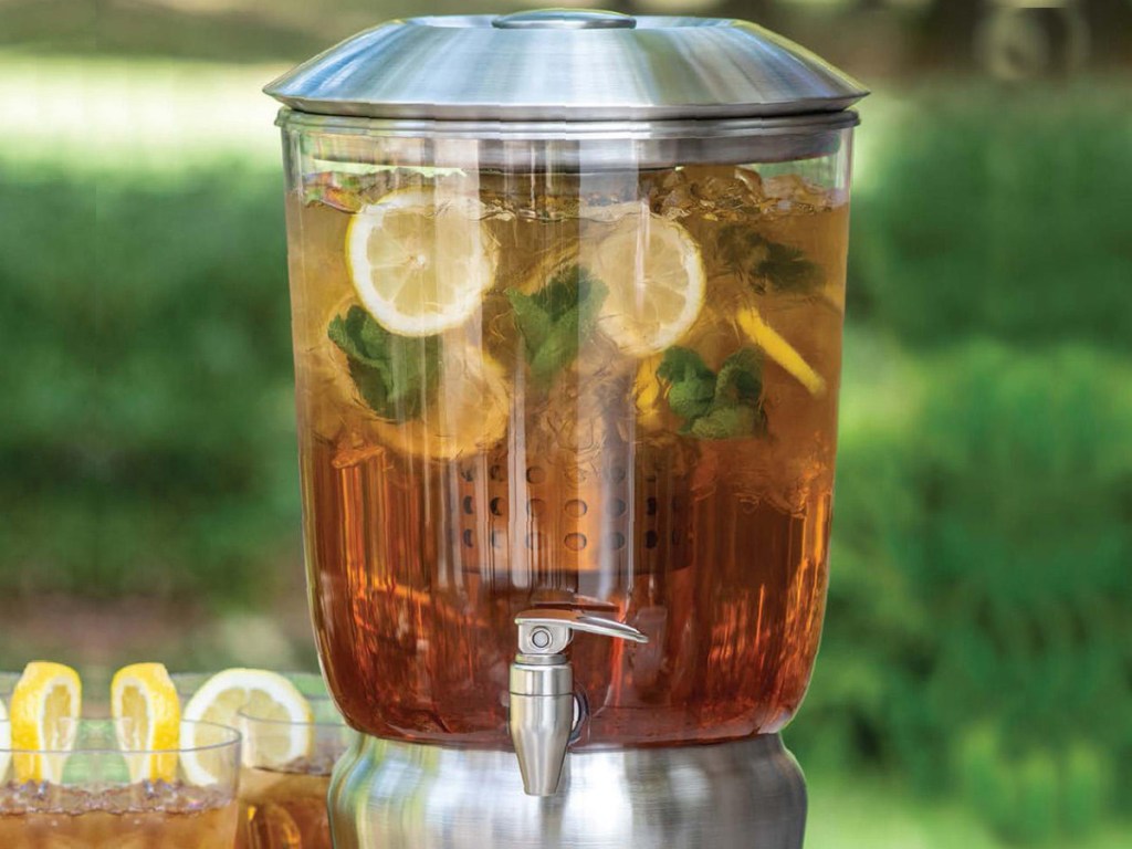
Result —
<path fill-rule="evenodd" d="M 294 560 L 281 178 L 3 177 L 0 591 L 245 598 Z"/>

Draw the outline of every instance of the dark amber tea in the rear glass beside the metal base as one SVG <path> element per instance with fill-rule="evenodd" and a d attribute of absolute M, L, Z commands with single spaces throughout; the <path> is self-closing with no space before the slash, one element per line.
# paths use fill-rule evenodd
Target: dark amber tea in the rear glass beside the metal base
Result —
<path fill-rule="evenodd" d="M 247 769 L 237 849 L 332 849 L 326 773 Z"/>

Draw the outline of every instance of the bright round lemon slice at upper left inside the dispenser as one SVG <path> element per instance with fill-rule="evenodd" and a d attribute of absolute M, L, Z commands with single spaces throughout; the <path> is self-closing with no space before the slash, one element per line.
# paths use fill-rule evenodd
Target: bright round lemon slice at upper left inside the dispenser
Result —
<path fill-rule="evenodd" d="M 346 230 L 346 265 L 362 305 L 402 336 L 468 320 L 495 280 L 498 245 L 466 195 L 404 189 L 363 206 Z"/>

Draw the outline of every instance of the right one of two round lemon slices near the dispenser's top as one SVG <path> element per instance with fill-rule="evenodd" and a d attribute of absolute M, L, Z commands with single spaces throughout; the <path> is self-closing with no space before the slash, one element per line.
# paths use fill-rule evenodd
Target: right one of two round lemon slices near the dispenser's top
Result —
<path fill-rule="evenodd" d="M 598 325 L 617 346 L 650 357 L 671 346 L 704 306 L 703 256 L 680 224 L 637 208 L 611 224 L 582 263 L 609 289 Z"/>

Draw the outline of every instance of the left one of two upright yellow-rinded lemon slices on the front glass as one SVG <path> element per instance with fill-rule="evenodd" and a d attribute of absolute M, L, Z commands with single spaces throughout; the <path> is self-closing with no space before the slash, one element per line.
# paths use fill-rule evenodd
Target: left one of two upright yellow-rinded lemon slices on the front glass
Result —
<path fill-rule="evenodd" d="M 75 745 L 83 684 L 62 663 L 28 663 L 11 693 L 11 746 L 16 780 L 59 783 Z M 26 754 L 29 752 L 50 754 Z"/>

